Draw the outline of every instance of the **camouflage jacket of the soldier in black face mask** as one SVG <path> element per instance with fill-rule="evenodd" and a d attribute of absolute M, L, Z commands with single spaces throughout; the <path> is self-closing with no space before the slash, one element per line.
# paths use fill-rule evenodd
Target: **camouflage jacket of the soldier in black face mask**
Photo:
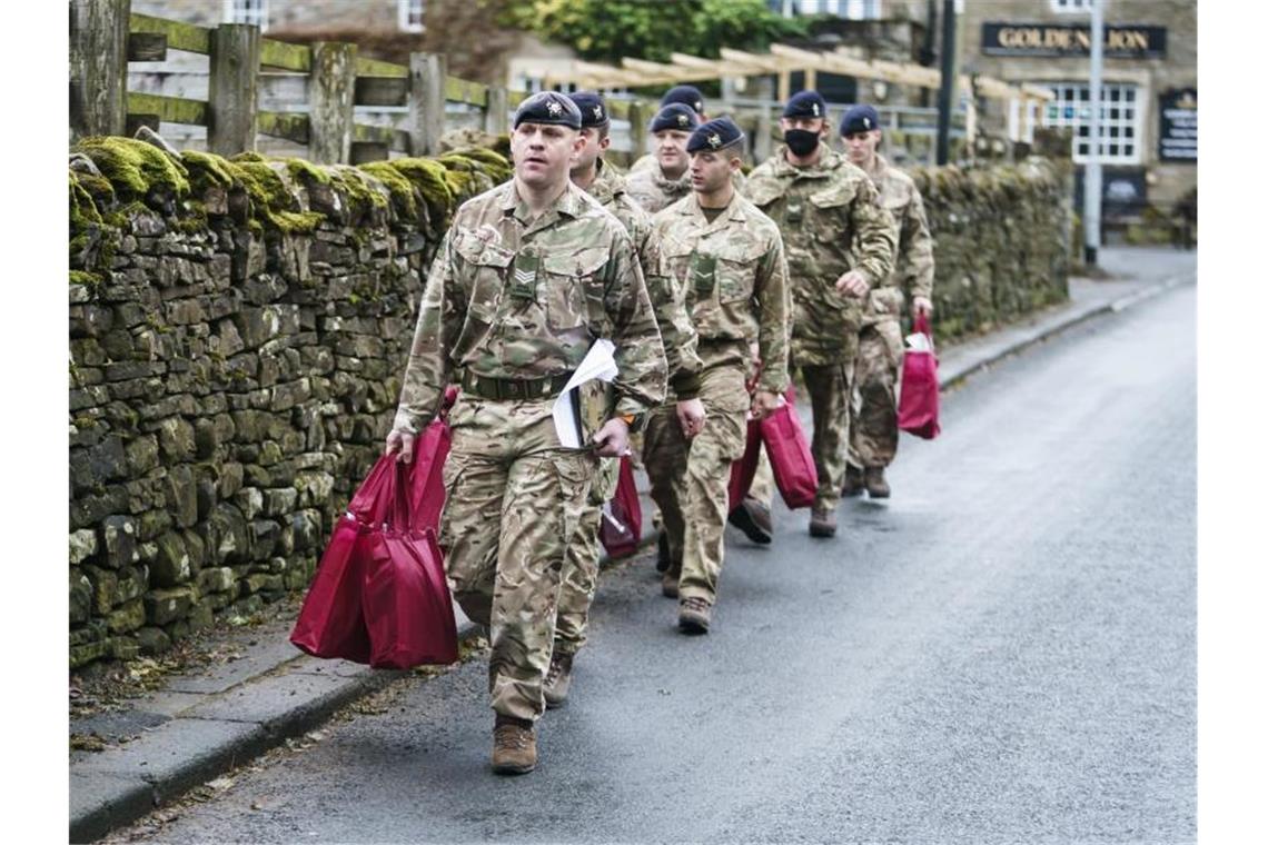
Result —
<path fill-rule="evenodd" d="M 827 147 L 818 163 L 794 167 L 776 149 L 748 176 L 748 196 L 784 234 L 792 286 L 792 359 L 798 365 L 848 359 L 864 303 L 837 290 L 860 270 L 879 285 L 894 266 L 894 224 L 867 174 Z"/>

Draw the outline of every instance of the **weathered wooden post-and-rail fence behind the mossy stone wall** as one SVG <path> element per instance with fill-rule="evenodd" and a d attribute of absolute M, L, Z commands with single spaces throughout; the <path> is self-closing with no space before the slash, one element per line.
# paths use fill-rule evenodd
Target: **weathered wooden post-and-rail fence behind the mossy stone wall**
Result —
<path fill-rule="evenodd" d="M 127 90 L 129 63 L 162 62 L 167 51 L 209 57 L 207 100 Z M 207 148 L 223 156 L 254 151 L 256 136 L 306 144 L 318 163 L 361 163 L 392 152 L 440 152 L 445 103 L 483 113 L 493 134 L 507 130 L 510 110 L 527 96 L 449 76 L 444 56 L 412 53 L 410 66 L 356 54 L 356 44 L 292 44 L 262 38 L 247 24 L 198 27 L 132 14 L 131 0 L 71 0 L 71 134 L 132 136 L 160 122 L 207 128 Z M 308 77 L 308 111 L 259 108 L 260 72 Z M 406 128 L 354 120 L 353 106 L 407 106 Z M 633 153 L 647 148 L 645 124 L 656 104 L 612 100 L 609 111 L 631 125 Z"/>

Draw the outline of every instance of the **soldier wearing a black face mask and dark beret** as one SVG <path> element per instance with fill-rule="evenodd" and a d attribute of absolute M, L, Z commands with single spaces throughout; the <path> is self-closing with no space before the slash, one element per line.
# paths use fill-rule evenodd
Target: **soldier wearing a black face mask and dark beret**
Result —
<path fill-rule="evenodd" d="M 819 474 L 813 537 L 837 533 L 861 302 L 894 264 L 890 215 L 867 174 L 824 143 L 827 113 L 817 91 L 790 98 L 780 118 L 785 143 L 748 179 L 748 195 L 779 223 L 789 252 L 792 364 L 810 394 Z"/>

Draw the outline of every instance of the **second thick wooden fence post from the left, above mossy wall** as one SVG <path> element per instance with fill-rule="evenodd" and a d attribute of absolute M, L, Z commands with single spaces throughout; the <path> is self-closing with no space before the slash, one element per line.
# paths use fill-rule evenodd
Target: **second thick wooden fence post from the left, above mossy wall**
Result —
<path fill-rule="evenodd" d="M 255 151 L 260 29 L 221 24 L 212 30 L 207 148 L 219 156 Z"/>

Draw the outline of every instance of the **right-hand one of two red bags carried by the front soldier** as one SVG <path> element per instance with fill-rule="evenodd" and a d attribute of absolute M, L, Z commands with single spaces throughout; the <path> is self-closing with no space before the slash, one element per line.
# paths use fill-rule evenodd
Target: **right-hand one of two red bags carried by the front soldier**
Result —
<path fill-rule="evenodd" d="M 410 669 L 458 660 L 453 598 L 434 528 L 418 528 L 407 490 L 417 465 L 397 465 L 384 521 L 370 535 L 361 612 L 370 635 L 369 664 Z"/>

